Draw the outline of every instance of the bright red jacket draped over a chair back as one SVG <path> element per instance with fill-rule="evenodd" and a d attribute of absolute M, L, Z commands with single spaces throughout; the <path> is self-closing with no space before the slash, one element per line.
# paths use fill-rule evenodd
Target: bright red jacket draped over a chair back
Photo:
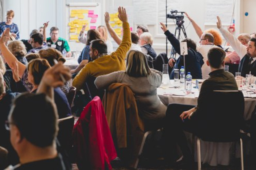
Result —
<path fill-rule="evenodd" d="M 83 109 L 73 130 L 76 163 L 80 170 L 112 169 L 116 149 L 109 130 L 102 102 L 98 96 Z"/>

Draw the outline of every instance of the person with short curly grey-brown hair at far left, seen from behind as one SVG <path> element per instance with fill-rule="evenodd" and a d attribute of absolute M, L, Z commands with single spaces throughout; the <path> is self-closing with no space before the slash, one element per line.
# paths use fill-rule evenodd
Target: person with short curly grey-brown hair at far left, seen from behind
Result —
<path fill-rule="evenodd" d="M 24 65 L 28 64 L 28 61 L 25 57 L 27 54 L 26 47 L 21 41 L 11 41 L 8 43 L 7 47 L 11 51 L 11 53 L 17 58 L 18 61 L 20 61 Z M 6 69 L 11 69 L 8 64 L 6 64 Z"/>

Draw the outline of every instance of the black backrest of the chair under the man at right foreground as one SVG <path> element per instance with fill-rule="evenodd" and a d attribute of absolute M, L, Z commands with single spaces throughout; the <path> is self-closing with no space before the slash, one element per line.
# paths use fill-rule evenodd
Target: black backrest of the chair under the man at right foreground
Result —
<path fill-rule="evenodd" d="M 204 141 L 239 140 L 243 123 L 244 96 L 241 91 L 213 91 L 201 101 L 199 137 Z"/>

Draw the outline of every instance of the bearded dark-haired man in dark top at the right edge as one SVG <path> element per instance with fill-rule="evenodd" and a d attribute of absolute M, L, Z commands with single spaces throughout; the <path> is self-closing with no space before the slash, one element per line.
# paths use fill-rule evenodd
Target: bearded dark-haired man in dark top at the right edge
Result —
<path fill-rule="evenodd" d="M 256 76 L 256 38 L 251 38 L 247 46 L 247 54 L 239 63 L 238 72 L 245 77 L 247 74 Z"/>

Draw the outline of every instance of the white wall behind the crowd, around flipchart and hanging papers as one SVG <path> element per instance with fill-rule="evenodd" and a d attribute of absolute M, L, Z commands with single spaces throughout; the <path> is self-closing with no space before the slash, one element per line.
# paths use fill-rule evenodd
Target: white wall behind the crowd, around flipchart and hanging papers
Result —
<path fill-rule="evenodd" d="M 104 11 L 110 12 L 112 10 L 116 10 L 114 9 L 116 6 L 133 6 L 133 0 L 2 0 L 2 2 L 2 9 L 4 13 L 8 9 L 14 10 L 14 23 L 18 24 L 21 38 L 24 39 L 28 38 L 31 30 L 42 26 L 46 21 L 50 21 L 47 30 L 48 35 L 50 27 L 57 26 L 60 28 L 60 36 L 68 39 L 67 34 L 65 33 L 67 31 L 66 4 L 70 2 L 100 2 L 102 7 L 102 18 L 104 17 Z M 253 8 L 256 6 L 256 1 L 236 0 L 236 3 L 235 35 L 238 35 L 242 32 L 256 32 L 254 29 L 256 28 L 256 22 L 253 22 L 254 16 L 256 16 L 256 11 Z M 171 6 L 171 0 L 168 0 L 168 6 Z M 185 0 L 184 10 L 188 12 L 195 21 L 197 21 L 202 30 L 215 27 L 204 25 L 205 0 Z M 249 12 L 249 16 L 245 17 L 244 12 Z M 102 22 L 104 22 L 103 19 Z M 171 30 L 171 32 L 174 32 L 175 26 L 171 19 L 168 19 L 168 22 L 168 29 Z M 130 24 L 133 25 L 133 23 Z M 189 21 L 185 18 L 185 27 L 187 27 L 188 24 Z M 148 28 L 154 37 L 153 47 L 156 49 L 156 52 L 165 52 L 166 39 L 161 29 L 159 28 L 159 24 L 156 23 L 154 25 L 148 25 Z M 186 32 L 188 37 L 199 42 L 199 37 L 196 35 L 192 24 L 187 27 Z M 168 45 L 168 49 L 171 49 L 170 44 Z"/>

